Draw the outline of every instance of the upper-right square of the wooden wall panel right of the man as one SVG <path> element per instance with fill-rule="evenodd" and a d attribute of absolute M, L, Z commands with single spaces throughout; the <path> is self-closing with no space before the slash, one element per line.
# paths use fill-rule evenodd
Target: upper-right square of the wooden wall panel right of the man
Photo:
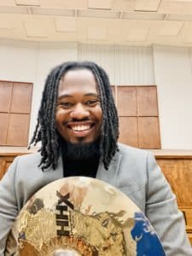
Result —
<path fill-rule="evenodd" d="M 156 87 L 137 87 L 138 116 L 158 116 Z"/>

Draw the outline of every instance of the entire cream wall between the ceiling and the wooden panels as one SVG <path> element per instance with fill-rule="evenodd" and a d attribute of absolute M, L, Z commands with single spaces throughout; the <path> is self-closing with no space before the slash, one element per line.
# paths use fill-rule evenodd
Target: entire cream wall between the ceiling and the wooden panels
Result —
<path fill-rule="evenodd" d="M 101 65 L 111 84 L 156 84 L 162 148 L 192 148 L 191 49 L 1 40 L 0 56 L 0 79 L 33 83 L 30 137 L 49 70 L 63 61 L 86 60 Z"/>

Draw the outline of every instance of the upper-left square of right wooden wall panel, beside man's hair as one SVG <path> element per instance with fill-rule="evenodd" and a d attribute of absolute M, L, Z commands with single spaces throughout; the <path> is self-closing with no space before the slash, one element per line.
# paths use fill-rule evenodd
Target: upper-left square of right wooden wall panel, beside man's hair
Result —
<path fill-rule="evenodd" d="M 119 116 L 137 116 L 136 87 L 117 86 Z"/>

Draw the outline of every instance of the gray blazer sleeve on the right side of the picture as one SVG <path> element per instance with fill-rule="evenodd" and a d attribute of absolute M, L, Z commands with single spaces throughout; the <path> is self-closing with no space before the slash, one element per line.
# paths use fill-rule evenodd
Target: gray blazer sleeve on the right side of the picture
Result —
<path fill-rule="evenodd" d="M 191 256 L 192 247 L 185 231 L 183 214 L 178 210 L 176 196 L 151 153 L 148 153 L 147 170 L 147 218 L 160 236 L 167 256 Z"/>

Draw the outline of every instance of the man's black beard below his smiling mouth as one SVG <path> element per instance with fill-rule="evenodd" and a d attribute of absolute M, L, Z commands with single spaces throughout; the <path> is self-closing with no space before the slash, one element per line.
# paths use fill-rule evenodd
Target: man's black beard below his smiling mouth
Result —
<path fill-rule="evenodd" d="M 62 139 L 61 148 L 67 159 L 88 160 L 100 156 L 100 139 L 93 143 L 69 143 Z"/>

